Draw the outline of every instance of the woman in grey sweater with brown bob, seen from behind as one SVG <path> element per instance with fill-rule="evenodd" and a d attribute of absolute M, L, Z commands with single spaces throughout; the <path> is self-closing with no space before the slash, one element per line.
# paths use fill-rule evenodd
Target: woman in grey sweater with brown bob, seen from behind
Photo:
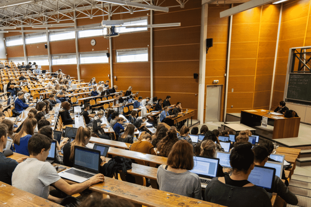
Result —
<path fill-rule="evenodd" d="M 157 182 L 161 191 L 202 200 L 199 176 L 189 172 L 194 166 L 193 147 L 179 140 L 169 152 L 167 163 L 159 166 Z M 270 202 L 271 203 L 271 202 Z"/>

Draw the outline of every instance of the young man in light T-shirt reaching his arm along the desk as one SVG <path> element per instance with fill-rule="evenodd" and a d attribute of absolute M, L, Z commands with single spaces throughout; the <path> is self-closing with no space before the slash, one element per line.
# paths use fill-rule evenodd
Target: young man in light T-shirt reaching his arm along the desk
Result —
<path fill-rule="evenodd" d="M 59 177 L 56 169 L 45 162 L 49 155 L 52 140 L 43 134 L 35 134 L 28 143 L 29 158 L 17 165 L 12 175 L 12 186 L 44 199 L 60 203 L 63 199 L 49 195 L 49 185 L 53 185 L 67 195 L 79 193 L 98 182 L 104 181 L 103 174 L 96 174 L 89 180 L 68 184 Z"/>

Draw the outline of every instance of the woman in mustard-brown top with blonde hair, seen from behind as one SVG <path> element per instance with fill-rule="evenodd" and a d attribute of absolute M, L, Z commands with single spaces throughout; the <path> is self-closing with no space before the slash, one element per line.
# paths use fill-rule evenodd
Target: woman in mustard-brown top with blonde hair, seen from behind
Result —
<path fill-rule="evenodd" d="M 151 135 L 146 132 L 142 132 L 142 134 L 138 137 L 138 140 L 131 145 L 130 150 L 156 155 L 156 151 L 151 144 Z"/>

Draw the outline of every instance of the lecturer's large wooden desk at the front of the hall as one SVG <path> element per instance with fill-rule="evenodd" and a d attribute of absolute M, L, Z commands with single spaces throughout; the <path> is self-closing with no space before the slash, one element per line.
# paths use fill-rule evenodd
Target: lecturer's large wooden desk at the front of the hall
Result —
<path fill-rule="evenodd" d="M 285 118 L 284 115 L 279 115 L 284 119 L 275 119 L 272 117 L 275 115 L 267 114 L 267 110 L 257 109 L 255 111 L 241 111 L 240 123 L 249 127 L 261 126 L 262 116 L 266 116 L 268 117 L 268 125 L 274 126 L 272 139 L 298 137 L 300 117 Z"/>

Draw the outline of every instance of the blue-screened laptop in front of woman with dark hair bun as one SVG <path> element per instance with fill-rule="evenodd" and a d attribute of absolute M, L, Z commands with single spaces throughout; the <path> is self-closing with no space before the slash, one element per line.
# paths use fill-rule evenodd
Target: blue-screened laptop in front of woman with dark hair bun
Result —
<path fill-rule="evenodd" d="M 275 168 L 255 165 L 247 180 L 256 186 L 264 188 L 267 192 L 272 193 L 275 171 Z"/>

